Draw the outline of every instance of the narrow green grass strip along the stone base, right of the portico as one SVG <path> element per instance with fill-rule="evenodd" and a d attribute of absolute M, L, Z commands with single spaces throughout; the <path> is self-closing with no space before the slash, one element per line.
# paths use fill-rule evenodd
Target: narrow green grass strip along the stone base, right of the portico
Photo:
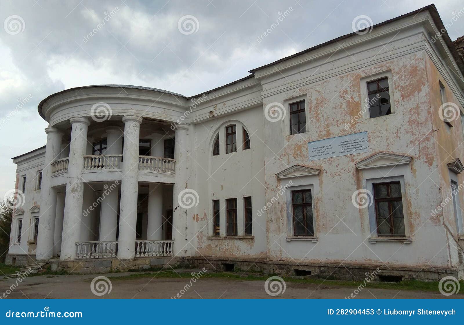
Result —
<path fill-rule="evenodd" d="M 200 276 L 201 279 L 226 279 L 226 280 L 246 280 L 246 281 L 265 281 L 269 278 L 270 275 L 260 275 L 260 274 L 235 274 L 227 272 L 216 272 L 216 273 L 206 273 Z M 111 281 L 113 280 L 134 280 L 138 278 L 182 278 L 190 279 L 193 275 L 190 272 L 175 272 L 173 270 L 161 271 L 161 272 L 150 272 L 150 273 L 134 273 L 124 276 L 111 276 Z M 347 281 L 347 280 L 323 280 L 323 279 L 296 279 L 292 277 L 282 277 L 285 282 L 288 283 L 301 283 L 301 284 L 315 284 L 315 285 L 326 285 L 333 287 L 351 287 L 357 288 L 361 285 L 364 286 L 363 281 Z M 365 285 L 366 288 L 379 288 L 379 289 L 391 289 L 391 290 L 415 290 L 415 291 L 430 291 L 430 292 L 439 292 L 438 291 L 438 281 L 420 281 L 420 280 L 403 280 L 401 282 L 368 282 Z M 460 281 L 460 290 L 459 294 L 464 294 L 464 281 Z"/>

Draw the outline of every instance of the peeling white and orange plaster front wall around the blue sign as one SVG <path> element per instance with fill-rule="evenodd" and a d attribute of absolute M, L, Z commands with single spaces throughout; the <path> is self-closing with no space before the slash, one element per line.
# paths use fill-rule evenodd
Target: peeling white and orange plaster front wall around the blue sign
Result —
<path fill-rule="evenodd" d="M 427 54 L 423 50 L 404 54 L 405 49 L 410 50 L 423 41 L 422 35 L 413 35 L 388 43 L 388 49 L 378 46 L 369 51 L 353 50 L 350 52 L 357 54 L 352 54 L 345 60 L 325 63 L 324 58 L 307 66 L 300 66 L 299 69 L 304 72 L 295 74 L 289 69 L 288 74 L 276 76 L 276 80 L 271 80 L 270 76 L 265 80 L 267 83 L 263 82 L 263 93 L 272 94 L 264 98 L 263 107 L 271 102 L 284 103 L 287 107 L 293 98 L 303 97 L 307 102 L 306 114 L 309 121 L 308 132 L 296 135 L 289 135 L 288 121 L 264 121 L 264 138 L 268 145 L 264 147 L 267 201 L 275 196 L 277 186 L 283 184 L 277 180 L 277 172 L 295 164 L 321 170 L 315 181 L 319 190 L 314 193 L 315 236 L 318 241 L 286 241 L 290 225 L 287 223 L 285 199 L 280 198 L 272 205 L 268 214 L 270 236 L 267 241 L 270 260 L 450 266 L 446 237 L 443 236 L 445 229 L 439 218 L 431 217 L 431 210 L 440 203 L 440 191 L 437 186 L 439 173 L 433 138 L 434 122 L 427 95 L 430 83 L 426 73 L 430 69 L 427 68 Z M 382 52 L 382 62 L 361 64 L 371 54 L 376 53 L 382 57 Z M 392 56 L 396 52 L 403 54 L 389 59 L 388 52 Z M 317 68 L 311 68 L 312 66 Z M 352 69 L 327 76 L 328 71 L 346 66 L 351 66 Z M 386 71 L 393 76 L 393 87 L 390 86 L 390 91 L 394 95 L 395 113 L 370 119 L 367 110 L 367 115 L 362 115 L 359 121 L 349 125 L 348 129 L 345 128 L 345 123 L 362 110 L 360 87 L 365 83 L 360 82 L 361 78 Z M 298 80 L 305 80 L 309 84 L 299 86 Z M 295 82 L 295 88 L 274 94 L 273 89 L 281 87 L 285 82 Z M 460 127 L 456 129 L 455 132 L 461 131 Z M 309 162 L 309 141 L 362 131 L 368 132 L 370 148 L 367 153 Z M 449 143 L 449 148 L 453 145 L 456 144 Z M 363 172 L 357 170 L 354 164 L 379 152 L 412 157 L 408 165 L 411 176 L 405 176 L 406 200 L 403 200 L 411 244 L 370 243 L 367 240 L 370 237 L 367 209 L 357 209 L 352 204 L 352 194 L 362 188 L 364 178 Z M 439 156 L 442 154 L 438 153 Z M 273 242 L 278 244 L 273 245 Z"/>

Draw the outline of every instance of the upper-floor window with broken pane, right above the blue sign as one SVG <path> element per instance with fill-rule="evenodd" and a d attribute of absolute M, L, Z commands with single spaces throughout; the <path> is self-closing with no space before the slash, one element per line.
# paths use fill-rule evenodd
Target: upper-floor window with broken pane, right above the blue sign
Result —
<path fill-rule="evenodd" d="M 371 118 L 392 114 L 388 77 L 367 82 L 367 96 Z"/>

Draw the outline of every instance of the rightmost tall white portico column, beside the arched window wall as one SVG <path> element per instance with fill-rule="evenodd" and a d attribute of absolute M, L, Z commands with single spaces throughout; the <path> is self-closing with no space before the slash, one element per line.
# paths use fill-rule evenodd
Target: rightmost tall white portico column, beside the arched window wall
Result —
<path fill-rule="evenodd" d="M 173 186 L 173 239 L 174 255 L 186 255 L 187 245 L 187 209 L 182 208 L 178 202 L 180 191 L 189 188 L 188 175 L 188 126 L 178 124 L 175 128 L 174 159 L 175 183 Z M 187 245 L 187 246 L 186 246 Z"/>

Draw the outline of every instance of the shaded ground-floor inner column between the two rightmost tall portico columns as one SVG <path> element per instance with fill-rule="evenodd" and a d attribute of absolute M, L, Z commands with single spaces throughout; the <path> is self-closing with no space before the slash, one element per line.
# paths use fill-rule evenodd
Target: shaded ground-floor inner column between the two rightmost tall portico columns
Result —
<path fill-rule="evenodd" d="M 163 185 L 150 183 L 148 185 L 148 223 L 147 239 L 160 240 L 163 224 Z"/>

